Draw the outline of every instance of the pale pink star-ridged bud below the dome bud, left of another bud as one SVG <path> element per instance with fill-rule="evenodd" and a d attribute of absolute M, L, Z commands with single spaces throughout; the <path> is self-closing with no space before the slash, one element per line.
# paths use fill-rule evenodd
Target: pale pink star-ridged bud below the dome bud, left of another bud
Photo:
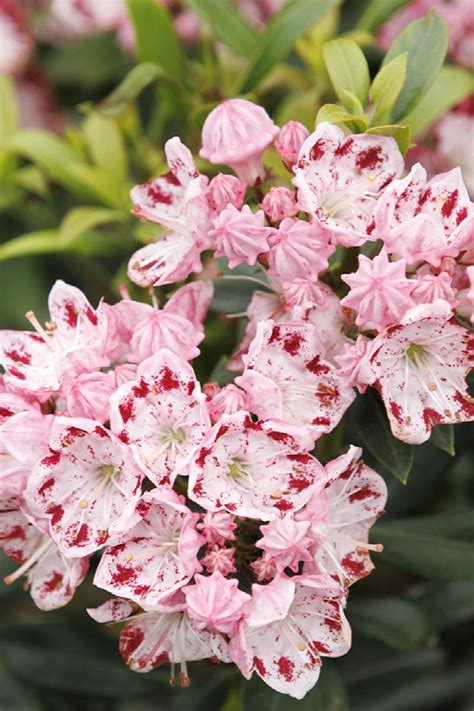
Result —
<path fill-rule="evenodd" d="M 214 220 L 214 229 L 209 233 L 215 240 L 216 257 L 227 257 L 231 269 L 242 262 L 255 264 L 258 255 L 269 249 L 271 228 L 264 223 L 262 210 L 253 213 L 248 205 L 242 210 L 228 205 Z"/>

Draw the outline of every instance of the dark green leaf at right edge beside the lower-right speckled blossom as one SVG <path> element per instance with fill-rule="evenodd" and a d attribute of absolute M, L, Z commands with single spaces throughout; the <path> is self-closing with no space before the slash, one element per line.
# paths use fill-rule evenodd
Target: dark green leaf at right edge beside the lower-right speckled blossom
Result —
<path fill-rule="evenodd" d="M 430 580 L 474 581 L 473 512 L 398 519 L 374 526 L 374 540 L 384 546 L 383 558 Z"/>

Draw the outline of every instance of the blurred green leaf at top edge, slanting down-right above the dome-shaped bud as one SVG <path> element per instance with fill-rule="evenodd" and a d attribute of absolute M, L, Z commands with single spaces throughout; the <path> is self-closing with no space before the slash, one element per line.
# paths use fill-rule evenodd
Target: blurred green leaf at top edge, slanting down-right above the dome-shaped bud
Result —
<path fill-rule="evenodd" d="M 190 0 L 189 5 L 210 22 L 217 39 L 236 54 L 248 57 L 254 50 L 257 33 L 229 0 Z"/>

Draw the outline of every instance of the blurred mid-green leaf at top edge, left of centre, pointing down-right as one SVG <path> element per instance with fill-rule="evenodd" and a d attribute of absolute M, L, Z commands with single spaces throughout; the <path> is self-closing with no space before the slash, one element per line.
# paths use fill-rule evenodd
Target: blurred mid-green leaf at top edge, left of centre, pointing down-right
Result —
<path fill-rule="evenodd" d="M 155 0 L 127 0 L 143 62 L 155 62 L 177 81 L 184 81 L 185 55 L 168 10 Z"/>

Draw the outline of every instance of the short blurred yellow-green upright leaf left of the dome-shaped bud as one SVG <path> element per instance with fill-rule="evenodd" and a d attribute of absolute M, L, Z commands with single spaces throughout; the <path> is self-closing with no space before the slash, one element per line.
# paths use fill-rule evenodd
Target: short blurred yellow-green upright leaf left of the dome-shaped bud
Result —
<path fill-rule="evenodd" d="M 127 155 L 122 134 L 115 121 L 92 112 L 83 123 L 83 131 L 94 163 L 115 182 L 125 182 Z"/>

